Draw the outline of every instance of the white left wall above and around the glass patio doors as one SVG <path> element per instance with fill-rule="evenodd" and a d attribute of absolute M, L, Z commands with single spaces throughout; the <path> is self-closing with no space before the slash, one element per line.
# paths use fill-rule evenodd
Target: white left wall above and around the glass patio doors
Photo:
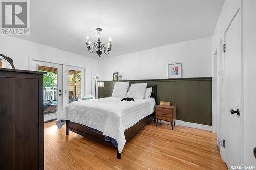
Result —
<path fill-rule="evenodd" d="M 94 93 L 92 77 L 98 73 L 96 59 L 10 36 L 0 36 L 0 54 L 11 57 L 16 69 L 28 70 L 28 56 L 40 61 L 84 67 L 86 68 L 86 94 Z"/>

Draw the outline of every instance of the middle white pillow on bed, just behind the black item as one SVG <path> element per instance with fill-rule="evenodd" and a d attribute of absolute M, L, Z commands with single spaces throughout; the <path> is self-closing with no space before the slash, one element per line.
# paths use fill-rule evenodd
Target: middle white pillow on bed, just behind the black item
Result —
<path fill-rule="evenodd" d="M 127 98 L 143 99 L 146 92 L 147 83 L 131 84 L 126 95 Z"/>

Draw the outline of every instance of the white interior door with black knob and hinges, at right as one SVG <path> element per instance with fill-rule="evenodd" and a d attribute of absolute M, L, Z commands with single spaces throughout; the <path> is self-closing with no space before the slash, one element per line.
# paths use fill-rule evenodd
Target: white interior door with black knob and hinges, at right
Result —
<path fill-rule="evenodd" d="M 240 25 L 238 12 L 225 32 L 225 162 L 229 169 L 241 165 L 241 117 L 230 111 L 241 111 L 242 103 Z"/>

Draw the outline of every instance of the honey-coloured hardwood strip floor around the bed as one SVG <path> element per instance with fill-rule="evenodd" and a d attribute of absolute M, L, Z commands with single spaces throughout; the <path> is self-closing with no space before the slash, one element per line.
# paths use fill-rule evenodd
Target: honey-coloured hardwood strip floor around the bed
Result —
<path fill-rule="evenodd" d="M 227 169 L 216 135 L 169 124 L 147 125 L 125 144 L 122 159 L 116 150 L 83 136 L 44 124 L 45 169 Z"/>

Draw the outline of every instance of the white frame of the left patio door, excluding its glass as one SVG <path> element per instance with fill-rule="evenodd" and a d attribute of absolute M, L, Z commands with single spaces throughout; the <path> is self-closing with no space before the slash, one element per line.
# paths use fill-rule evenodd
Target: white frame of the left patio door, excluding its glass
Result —
<path fill-rule="evenodd" d="M 55 63 L 50 63 L 50 62 L 45 62 L 45 61 L 38 61 L 38 60 L 32 60 L 32 69 L 37 71 L 38 65 L 41 66 L 46 66 L 46 67 L 53 67 L 53 68 L 57 68 L 57 112 L 62 112 L 62 105 L 63 105 L 63 98 L 62 96 L 60 96 L 59 94 L 62 95 L 62 91 L 63 91 L 63 66 L 61 64 L 55 64 Z M 59 91 L 61 90 L 61 92 Z M 54 120 L 57 119 L 58 117 L 58 113 L 55 114 L 49 114 L 44 116 L 44 122 L 48 122 L 50 120 Z"/>

